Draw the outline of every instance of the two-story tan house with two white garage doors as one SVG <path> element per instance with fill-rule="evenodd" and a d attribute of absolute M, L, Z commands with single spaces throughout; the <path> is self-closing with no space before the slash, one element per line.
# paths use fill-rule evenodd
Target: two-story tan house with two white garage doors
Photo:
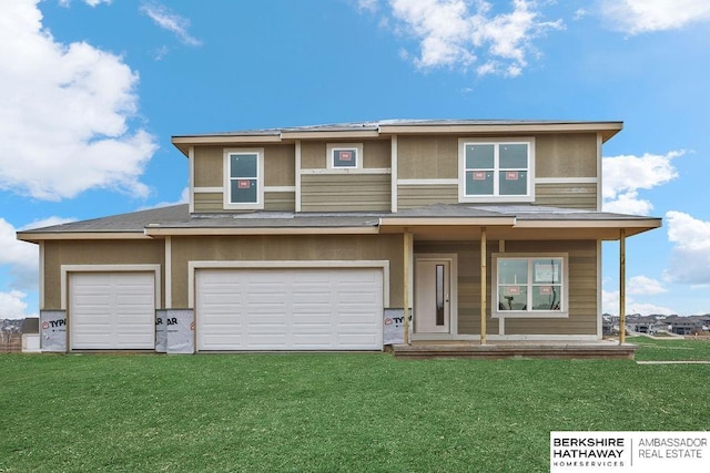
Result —
<path fill-rule="evenodd" d="M 153 350 L 165 320 L 187 325 L 187 351 L 382 350 L 384 313 L 405 307 L 405 342 L 592 341 L 601 243 L 661 225 L 601 212 L 601 147 L 621 127 L 434 120 L 174 136 L 189 204 L 19 238 L 39 245 L 42 325 L 64 325 L 59 351 Z"/>

